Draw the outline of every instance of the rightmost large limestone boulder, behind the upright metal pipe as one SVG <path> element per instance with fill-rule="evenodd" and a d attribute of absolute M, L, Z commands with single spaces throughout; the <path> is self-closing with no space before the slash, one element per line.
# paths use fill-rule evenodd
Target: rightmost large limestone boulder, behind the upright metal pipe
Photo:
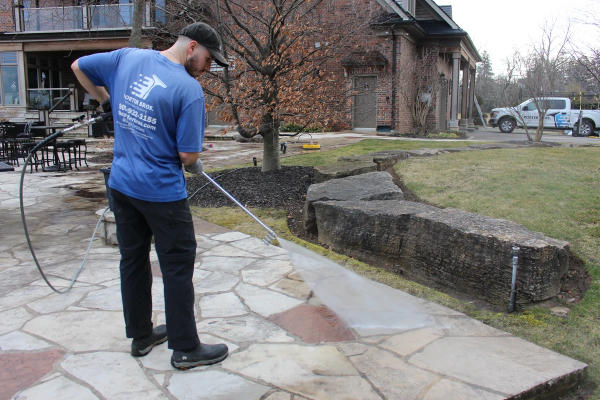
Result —
<path fill-rule="evenodd" d="M 520 247 L 517 303 L 558 294 L 560 278 L 569 268 L 569 243 L 505 219 L 457 209 L 417 213 L 410 219 L 400 257 L 409 275 L 508 305 L 513 245 Z"/>

